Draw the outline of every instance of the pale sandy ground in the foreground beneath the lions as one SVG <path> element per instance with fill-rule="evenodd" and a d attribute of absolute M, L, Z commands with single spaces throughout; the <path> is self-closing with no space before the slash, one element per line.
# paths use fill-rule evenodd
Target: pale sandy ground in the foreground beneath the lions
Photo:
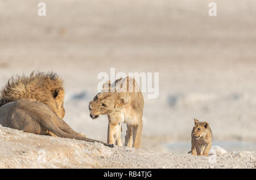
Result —
<path fill-rule="evenodd" d="M 0 126 L 0 168 L 255 168 L 255 152 L 192 156 L 28 134 Z M 10 158 L 11 157 L 11 158 Z"/>

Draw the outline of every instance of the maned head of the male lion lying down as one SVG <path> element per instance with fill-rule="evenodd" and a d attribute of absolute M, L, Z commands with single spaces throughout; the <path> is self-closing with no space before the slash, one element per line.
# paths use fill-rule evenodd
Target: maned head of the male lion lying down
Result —
<path fill-rule="evenodd" d="M 9 102 L 31 100 L 48 105 L 61 119 L 65 115 L 63 80 L 53 72 L 12 77 L 0 93 L 0 107 Z"/>

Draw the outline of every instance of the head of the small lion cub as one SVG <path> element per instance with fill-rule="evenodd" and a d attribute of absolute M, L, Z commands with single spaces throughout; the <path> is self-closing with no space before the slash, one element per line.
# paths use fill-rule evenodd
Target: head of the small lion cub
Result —
<path fill-rule="evenodd" d="M 195 139 L 200 139 L 201 137 L 204 137 L 208 128 L 209 124 L 208 122 L 200 122 L 197 119 L 194 118 L 195 126 L 192 130 L 192 135 L 195 137 Z"/>

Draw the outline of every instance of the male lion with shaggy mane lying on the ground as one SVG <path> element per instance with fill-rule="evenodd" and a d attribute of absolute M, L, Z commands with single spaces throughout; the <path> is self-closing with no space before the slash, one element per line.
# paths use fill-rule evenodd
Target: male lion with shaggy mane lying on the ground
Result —
<path fill-rule="evenodd" d="M 52 72 L 11 78 L 1 91 L 0 124 L 39 135 L 98 142 L 73 131 L 63 121 L 63 100 L 63 81 Z"/>

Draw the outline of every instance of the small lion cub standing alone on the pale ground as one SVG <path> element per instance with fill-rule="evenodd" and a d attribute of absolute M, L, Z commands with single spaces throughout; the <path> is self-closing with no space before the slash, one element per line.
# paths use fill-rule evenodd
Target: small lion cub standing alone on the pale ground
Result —
<path fill-rule="evenodd" d="M 191 154 L 208 156 L 212 147 L 212 130 L 208 122 L 200 122 L 194 118 L 195 126 L 191 132 Z"/>

